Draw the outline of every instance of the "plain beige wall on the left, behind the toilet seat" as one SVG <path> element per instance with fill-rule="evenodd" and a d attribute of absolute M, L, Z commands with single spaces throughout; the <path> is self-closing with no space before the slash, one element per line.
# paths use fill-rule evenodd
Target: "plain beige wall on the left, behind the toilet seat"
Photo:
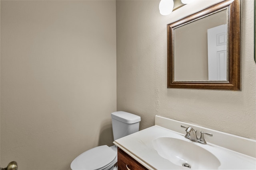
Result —
<path fill-rule="evenodd" d="M 112 145 L 116 2 L 1 0 L 1 166 L 66 170 Z"/>

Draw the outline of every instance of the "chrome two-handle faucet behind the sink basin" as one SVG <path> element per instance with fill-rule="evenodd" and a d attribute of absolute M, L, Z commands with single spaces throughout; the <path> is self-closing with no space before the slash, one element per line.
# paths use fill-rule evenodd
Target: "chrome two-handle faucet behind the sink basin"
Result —
<path fill-rule="evenodd" d="M 194 141 L 196 143 L 201 143 L 201 144 L 206 144 L 206 141 L 204 139 L 204 134 L 212 137 L 212 134 L 210 133 L 205 133 L 203 131 L 201 131 L 201 137 L 198 138 L 197 135 L 196 135 L 196 132 L 197 130 L 193 129 L 192 127 L 184 127 L 182 125 L 180 125 L 180 127 L 183 127 L 183 128 L 186 128 L 186 135 L 185 135 L 185 138 L 186 139 L 189 139 L 190 141 Z"/>

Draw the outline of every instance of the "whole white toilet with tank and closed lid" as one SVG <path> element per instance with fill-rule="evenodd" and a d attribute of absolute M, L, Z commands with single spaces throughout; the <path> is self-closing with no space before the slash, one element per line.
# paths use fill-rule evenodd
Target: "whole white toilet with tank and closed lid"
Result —
<path fill-rule="evenodd" d="M 114 141 L 139 131 L 140 116 L 125 111 L 111 113 Z M 71 163 L 72 170 L 117 170 L 117 147 L 107 145 L 87 150 Z"/>

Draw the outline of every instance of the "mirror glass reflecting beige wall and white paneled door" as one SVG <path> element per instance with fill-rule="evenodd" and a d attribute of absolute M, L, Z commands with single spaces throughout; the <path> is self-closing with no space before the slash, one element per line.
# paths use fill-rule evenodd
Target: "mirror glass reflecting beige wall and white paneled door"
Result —
<path fill-rule="evenodd" d="M 228 10 L 174 27 L 174 81 L 228 81 Z"/>

